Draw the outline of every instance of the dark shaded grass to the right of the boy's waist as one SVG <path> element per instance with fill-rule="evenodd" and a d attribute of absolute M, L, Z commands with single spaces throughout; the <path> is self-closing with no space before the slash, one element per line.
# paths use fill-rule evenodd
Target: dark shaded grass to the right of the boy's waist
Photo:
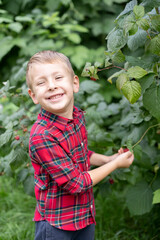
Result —
<path fill-rule="evenodd" d="M 159 240 L 160 205 L 142 216 L 130 216 L 120 192 L 96 197 L 95 240 Z"/>

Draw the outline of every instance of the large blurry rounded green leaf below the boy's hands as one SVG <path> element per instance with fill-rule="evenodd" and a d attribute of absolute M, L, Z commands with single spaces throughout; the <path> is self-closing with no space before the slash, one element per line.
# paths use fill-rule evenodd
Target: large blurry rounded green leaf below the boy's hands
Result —
<path fill-rule="evenodd" d="M 147 182 L 139 182 L 127 191 L 126 203 L 132 215 L 142 215 L 152 209 L 152 189 Z"/>

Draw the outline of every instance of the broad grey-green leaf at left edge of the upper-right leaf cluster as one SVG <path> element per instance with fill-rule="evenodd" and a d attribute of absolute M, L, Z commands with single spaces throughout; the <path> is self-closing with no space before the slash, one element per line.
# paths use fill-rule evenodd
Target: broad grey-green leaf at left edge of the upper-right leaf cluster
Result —
<path fill-rule="evenodd" d="M 116 29 L 109 33 L 107 36 L 107 48 L 108 51 L 115 52 L 122 47 L 124 47 L 127 43 L 127 36 L 124 35 L 122 29 Z"/>

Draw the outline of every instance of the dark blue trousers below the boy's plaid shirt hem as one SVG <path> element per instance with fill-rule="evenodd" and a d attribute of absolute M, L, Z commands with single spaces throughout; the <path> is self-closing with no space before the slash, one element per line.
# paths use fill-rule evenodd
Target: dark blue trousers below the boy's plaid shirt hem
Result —
<path fill-rule="evenodd" d="M 95 224 L 77 231 L 61 230 L 51 226 L 47 221 L 35 224 L 35 240 L 94 240 Z"/>

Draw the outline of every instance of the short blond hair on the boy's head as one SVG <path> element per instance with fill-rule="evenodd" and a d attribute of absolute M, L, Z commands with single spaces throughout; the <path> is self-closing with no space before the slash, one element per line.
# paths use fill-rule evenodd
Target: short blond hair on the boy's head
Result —
<path fill-rule="evenodd" d="M 26 82 L 29 88 L 32 88 L 31 85 L 31 79 L 30 79 L 30 75 L 29 75 L 29 71 L 32 68 L 33 64 L 38 64 L 38 63 L 55 63 L 55 62 L 63 62 L 64 64 L 66 64 L 69 72 L 74 76 L 75 73 L 73 71 L 72 65 L 69 61 L 69 58 L 67 56 L 65 56 L 63 53 L 60 52 L 56 52 L 56 51 L 51 51 L 51 50 L 45 50 L 45 51 L 41 51 L 38 52 L 36 54 L 34 54 L 28 64 L 27 64 L 27 71 L 26 71 Z"/>

